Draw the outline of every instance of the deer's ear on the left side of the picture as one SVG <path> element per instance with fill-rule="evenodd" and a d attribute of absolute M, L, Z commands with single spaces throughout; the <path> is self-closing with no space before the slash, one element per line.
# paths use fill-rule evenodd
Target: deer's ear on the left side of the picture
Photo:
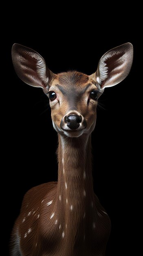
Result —
<path fill-rule="evenodd" d="M 14 44 L 12 61 L 15 72 L 22 81 L 35 87 L 48 88 L 54 74 L 46 67 L 40 54 L 23 45 Z"/>

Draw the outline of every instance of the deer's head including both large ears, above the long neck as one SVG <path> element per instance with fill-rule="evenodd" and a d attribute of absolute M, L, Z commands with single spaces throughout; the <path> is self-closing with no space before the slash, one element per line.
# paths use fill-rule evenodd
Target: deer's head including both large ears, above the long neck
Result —
<path fill-rule="evenodd" d="M 97 71 L 88 76 L 76 71 L 53 74 L 44 58 L 33 49 L 14 44 L 12 60 L 25 83 L 41 87 L 51 106 L 53 127 L 59 134 L 79 137 L 95 128 L 97 100 L 106 87 L 114 86 L 129 74 L 133 59 L 131 43 L 106 52 Z"/>

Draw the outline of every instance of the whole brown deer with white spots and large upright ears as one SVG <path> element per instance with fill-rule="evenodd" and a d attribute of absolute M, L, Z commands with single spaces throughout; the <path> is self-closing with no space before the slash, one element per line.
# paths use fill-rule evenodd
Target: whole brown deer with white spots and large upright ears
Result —
<path fill-rule="evenodd" d="M 33 49 L 14 44 L 15 72 L 40 87 L 58 134 L 58 181 L 24 195 L 11 235 L 11 256 L 105 256 L 111 222 L 93 190 L 91 133 L 104 89 L 128 76 L 133 46 L 106 52 L 91 75 L 75 70 L 54 74 Z"/>

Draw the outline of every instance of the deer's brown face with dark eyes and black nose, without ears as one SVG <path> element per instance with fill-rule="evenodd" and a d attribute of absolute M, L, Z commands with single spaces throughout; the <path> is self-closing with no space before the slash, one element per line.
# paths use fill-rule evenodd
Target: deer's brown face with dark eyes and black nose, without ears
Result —
<path fill-rule="evenodd" d="M 58 74 L 47 92 L 55 130 L 69 137 L 91 132 L 100 94 L 95 81 L 86 74 L 76 71 Z"/>

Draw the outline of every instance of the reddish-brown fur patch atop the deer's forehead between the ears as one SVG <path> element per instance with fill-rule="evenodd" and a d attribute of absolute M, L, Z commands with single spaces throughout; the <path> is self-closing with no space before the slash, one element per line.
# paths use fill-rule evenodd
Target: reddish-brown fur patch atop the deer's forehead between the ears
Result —
<path fill-rule="evenodd" d="M 57 79 L 61 85 L 82 85 L 88 82 L 88 75 L 77 72 L 68 71 L 57 75 Z"/>

